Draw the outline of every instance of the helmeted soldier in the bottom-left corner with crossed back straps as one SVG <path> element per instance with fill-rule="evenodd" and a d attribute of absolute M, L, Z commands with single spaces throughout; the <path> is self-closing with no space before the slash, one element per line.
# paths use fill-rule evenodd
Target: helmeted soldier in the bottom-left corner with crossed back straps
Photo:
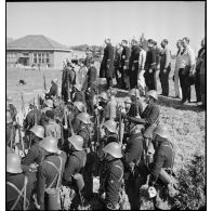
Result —
<path fill-rule="evenodd" d="M 23 173 L 17 154 L 6 155 L 6 210 L 27 210 L 35 181 L 35 175 Z M 26 190 L 19 196 L 19 192 L 25 188 Z"/>

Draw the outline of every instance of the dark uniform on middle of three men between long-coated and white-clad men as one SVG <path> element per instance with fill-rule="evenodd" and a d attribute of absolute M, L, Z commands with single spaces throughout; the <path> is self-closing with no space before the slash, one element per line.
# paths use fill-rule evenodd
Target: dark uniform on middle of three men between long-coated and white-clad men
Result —
<path fill-rule="evenodd" d="M 129 58 L 130 58 L 130 49 L 128 47 L 123 47 L 121 53 L 121 83 L 122 89 L 130 89 L 130 81 L 129 81 Z M 123 67 L 126 66 L 126 69 Z"/>

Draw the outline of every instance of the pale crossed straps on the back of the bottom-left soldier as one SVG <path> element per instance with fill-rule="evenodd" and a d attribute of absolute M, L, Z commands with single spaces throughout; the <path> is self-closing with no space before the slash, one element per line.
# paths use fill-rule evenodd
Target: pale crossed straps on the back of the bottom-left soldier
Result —
<path fill-rule="evenodd" d="M 25 176 L 24 177 L 24 187 L 22 188 L 22 190 L 19 190 L 13 183 L 6 182 L 8 185 L 13 187 L 18 193 L 17 199 L 15 200 L 15 202 L 12 206 L 11 210 L 15 209 L 15 207 L 17 206 L 17 202 L 19 201 L 21 197 L 24 198 L 23 210 L 26 210 L 26 208 L 27 208 L 26 203 L 29 203 L 28 199 L 26 198 L 26 186 L 27 186 L 27 183 L 28 183 L 28 177 Z M 23 196 L 23 193 L 24 193 L 24 196 Z"/>

